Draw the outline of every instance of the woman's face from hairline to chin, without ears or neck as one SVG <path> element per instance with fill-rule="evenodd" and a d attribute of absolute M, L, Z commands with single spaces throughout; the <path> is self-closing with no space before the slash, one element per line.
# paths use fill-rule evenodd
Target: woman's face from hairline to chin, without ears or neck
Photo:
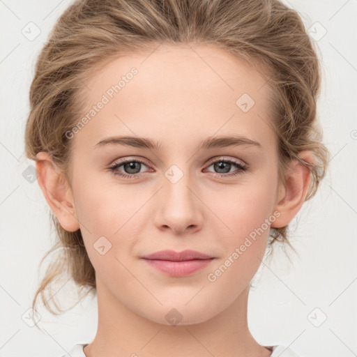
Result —
<path fill-rule="evenodd" d="M 86 83 L 84 115 L 93 111 L 73 130 L 71 188 L 102 300 L 160 324 L 168 313 L 197 324 L 248 287 L 279 214 L 264 84 L 218 48 L 164 45 Z M 143 258 L 161 250 L 212 259 Z"/>

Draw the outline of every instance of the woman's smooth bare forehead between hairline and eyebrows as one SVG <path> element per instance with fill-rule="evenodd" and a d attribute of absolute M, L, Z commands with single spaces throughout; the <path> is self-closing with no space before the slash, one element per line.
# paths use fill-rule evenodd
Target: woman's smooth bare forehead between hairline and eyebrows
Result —
<path fill-rule="evenodd" d="M 253 66 L 213 45 L 160 45 L 127 54 L 86 82 L 84 115 L 100 101 L 105 105 L 76 140 L 85 137 L 94 145 L 109 135 L 134 133 L 165 142 L 170 135 L 201 132 L 202 139 L 232 131 L 268 140 L 265 84 Z"/>

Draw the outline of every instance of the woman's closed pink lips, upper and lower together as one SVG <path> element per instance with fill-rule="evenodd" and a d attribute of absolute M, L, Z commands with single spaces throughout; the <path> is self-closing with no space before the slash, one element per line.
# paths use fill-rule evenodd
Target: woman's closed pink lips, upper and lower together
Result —
<path fill-rule="evenodd" d="M 153 268 L 172 276 L 185 276 L 195 273 L 195 271 L 199 271 L 210 264 L 214 259 L 214 257 L 195 250 L 183 250 L 183 252 L 162 250 L 146 255 L 143 258 Z"/>

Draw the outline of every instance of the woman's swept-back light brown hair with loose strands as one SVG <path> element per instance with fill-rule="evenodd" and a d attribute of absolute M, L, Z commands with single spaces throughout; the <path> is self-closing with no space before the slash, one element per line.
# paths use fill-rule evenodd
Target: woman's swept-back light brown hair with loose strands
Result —
<path fill-rule="evenodd" d="M 328 164 L 317 123 L 317 97 L 321 69 L 314 43 L 301 17 L 278 0 L 82 0 L 70 5 L 52 29 L 36 62 L 30 89 L 25 150 L 32 160 L 40 151 L 50 153 L 70 183 L 72 142 L 65 135 L 82 116 L 84 82 L 118 56 L 152 51 L 161 43 L 213 44 L 254 65 L 266 78 L 272 123 L 279 138 L 279 179 L 297 159 L 309 167 L 314 196 Z M 298 157 L 310 150 L 308 163 Z M 52 259 L 33 297 L 43 303 L 50 284 L 64 270 L 78 287 L 96 290 L 95 271 L 84 247 L 81 231 L 64 230 L 50 211 L 56 241 Z M 288 226 L 271 228 L 268 245 L 286 242 Z M 270 248 L 270 246 L 269 246 Z M 87 291 L 87 292 L 89 292 Z M 53 301 L 56 305 L 55 301 Z M 58 305 L 56 309 L 59 311 Z"/>

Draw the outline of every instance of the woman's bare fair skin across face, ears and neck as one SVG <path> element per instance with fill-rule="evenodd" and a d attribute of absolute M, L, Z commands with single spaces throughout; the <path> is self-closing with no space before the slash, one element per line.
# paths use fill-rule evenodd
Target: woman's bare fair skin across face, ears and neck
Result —
<path fill-rule="evenodd" d="M 278 182 L 278 138 L 267 125 L 266 80 L 216 47 L 161 45 L 150 55 L 130 54 L 93 73 L 86 83 L 90 90 L 84 91 L 84 113 L 132 67 L 138 74 L 73 137 L 70 183 L 61 179 L 47 153 L 37 155 L 38 183 L 47 202 L 64 229 L 81 229 L 96 270 L 98 331 L 84 352 L 270 356 L 250 334 L 247 320 L 249 284 L 264 257 L 269 229 L 214 282 L 208 280 L 274 212 L 280 216 L 271 227 L 289 224 L 307 194 L 309 171 L 296 160 L 287 182 Z M 236 105 L 243 93 L 255 100 L 248 112 Z M 259 142 L 261 149 L 240 145 L 197 151 L 203 139 L 232 134 Z M 114 135 L 150 138 L 161 143 L 160 149 L 93 149 Z M 313 160 L 309 151 L 300 156 Z M 221 157 L 248 169 L 219 177 L 227 171 L 211 161 Z M 142 174 L 137 179 L 108 170 L 125 158 L 149 165 L 137 164 Z M 172 165 L 183 173 L 176 183 L 165 176 Z M 231 165 L 228 171 L 239 169 Z M 124 166 L 117 172 L 130 174 Z M 105 255 L 93 247 L 100 236 L 112 244 Z M 164 249 L 192 249 L 215 259 L 178 278 L 141 259 Z M 173 308 L 182 316 L 176 326 L 165 319 Z"/>

